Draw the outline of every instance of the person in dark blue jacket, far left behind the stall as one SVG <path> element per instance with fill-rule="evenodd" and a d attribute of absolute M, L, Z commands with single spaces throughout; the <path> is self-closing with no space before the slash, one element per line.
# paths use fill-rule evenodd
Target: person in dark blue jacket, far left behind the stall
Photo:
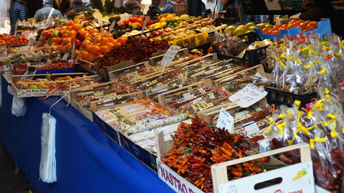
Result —
<path fill-rule="evenodd" d="M 28 8 L 25 4 L 28 0 L 16 0 L 10 8 L 11 35 L 14 34 L 17 21 L 28 20 Z"/>

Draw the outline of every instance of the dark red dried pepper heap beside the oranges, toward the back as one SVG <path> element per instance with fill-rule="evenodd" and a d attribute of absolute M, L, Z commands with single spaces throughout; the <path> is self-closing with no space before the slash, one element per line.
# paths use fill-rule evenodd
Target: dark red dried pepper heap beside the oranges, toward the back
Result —
<path fill-rule="evenodd" d="M 140 43 L 138 41 L 138 37 L 129 38 L 124 45 L 115 46 L 103 57 L 96 59 L 98 67 L 108 67 L 126 60 L 140 63 L 148 60 L 154 52 L 169 48 L 167 41 L 149 41 L 147 38 L 142 38 Z"/>

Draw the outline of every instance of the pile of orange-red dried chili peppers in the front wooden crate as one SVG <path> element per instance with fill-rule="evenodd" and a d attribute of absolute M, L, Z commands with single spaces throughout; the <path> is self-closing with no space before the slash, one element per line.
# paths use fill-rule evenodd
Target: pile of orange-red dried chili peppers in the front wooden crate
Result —
<path fill-rule="evenodd" d="M 173 139 L 173 148 L 166 153 L 162 162 L 204 192 L 213 191 L 213 164 L 248 155 L 243 136 L 206 124 L 200 117 L 194 117 L 192 124 L 182 122 Z M 253 163 L 250 161 L 228 167 L 228 177 L 232 178 L 233 173 L 237 174 L 236 178 L 244 177 L 237 173 L 240 170 L 241 173 L 247 171 L 247 175 L 261 172 Z"/>

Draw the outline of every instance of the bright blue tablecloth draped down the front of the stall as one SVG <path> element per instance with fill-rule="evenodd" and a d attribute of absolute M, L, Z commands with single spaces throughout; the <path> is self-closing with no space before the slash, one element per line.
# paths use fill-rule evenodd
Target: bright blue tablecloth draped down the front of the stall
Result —
<path fill-rule="evenodd" d="M 23 117 L 11 114 L 12 95 L 1 76 L 0 139 L 10 157 L 37 192 L 173 192 L 158 175 L 114 143 L 86 117 L 61 100 L 52 109 L 56 118 L 57 182 L 39 180 L 42 113 L 59 97 L 27 98 Z"/>

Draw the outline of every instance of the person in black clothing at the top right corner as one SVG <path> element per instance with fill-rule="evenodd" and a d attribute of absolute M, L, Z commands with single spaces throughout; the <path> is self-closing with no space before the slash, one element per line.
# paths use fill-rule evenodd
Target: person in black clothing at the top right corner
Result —
<path fill-rule="evenodd" d="M 320 21 L 322 18 L 329 18 L 332 32 L 344 37 L 344 13 L 335 10 L 330 0 L 303 0 L 305 12 L 299 16 L 305 21 Z"/>

